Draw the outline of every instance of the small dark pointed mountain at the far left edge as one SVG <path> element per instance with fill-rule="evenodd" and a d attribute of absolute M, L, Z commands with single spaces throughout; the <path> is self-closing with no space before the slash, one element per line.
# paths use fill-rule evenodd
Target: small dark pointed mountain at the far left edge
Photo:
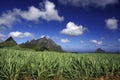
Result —
<path fill-rule="evenodd" d="M 0 48 L 1 47 L 13 47 L 16 45 L 17 45 L 16 41 L 10 36 L 4 42 L 0 43 Z"/>

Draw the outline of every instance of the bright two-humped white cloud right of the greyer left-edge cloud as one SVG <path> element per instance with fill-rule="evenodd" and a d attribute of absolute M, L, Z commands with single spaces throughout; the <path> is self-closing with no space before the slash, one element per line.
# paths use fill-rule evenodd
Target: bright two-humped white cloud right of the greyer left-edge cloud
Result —
<path fill-rule="evenodd" d="M 44 2 L 44 9 L 39 9 L 34 6 L 29 7 L 28 11 L 21 11 L 20 15 L 22 18 L 30 21 L 37 21 L 40 18 L 51 21 L 63 21 L 64 17 L 58 15 L 58 10 L 55 9 L 55 4 L 50 1 Z"/>

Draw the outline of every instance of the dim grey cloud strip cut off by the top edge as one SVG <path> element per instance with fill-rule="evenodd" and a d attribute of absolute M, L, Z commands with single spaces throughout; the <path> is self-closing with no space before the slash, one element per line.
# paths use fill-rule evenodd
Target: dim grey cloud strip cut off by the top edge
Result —
<path fill-rule="evenodd" d="M 107 5 L 113 5 L 119 2 L 119 0 L 59 0 L 63 5 L 72 5 L 76 7 L 106 7 Z"/>

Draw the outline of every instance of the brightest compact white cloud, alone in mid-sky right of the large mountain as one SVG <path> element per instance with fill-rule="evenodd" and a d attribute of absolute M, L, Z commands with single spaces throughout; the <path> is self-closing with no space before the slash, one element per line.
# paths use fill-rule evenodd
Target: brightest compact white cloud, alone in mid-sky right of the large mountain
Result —
<path fill-rule="evenodd" d="M 62 34 L 70 36 L 79 36 L 84 33 L 87 28 L 82 25 L 76 25 L 74 22 L 68 22 L 66 28 L 61 31 Z"/>

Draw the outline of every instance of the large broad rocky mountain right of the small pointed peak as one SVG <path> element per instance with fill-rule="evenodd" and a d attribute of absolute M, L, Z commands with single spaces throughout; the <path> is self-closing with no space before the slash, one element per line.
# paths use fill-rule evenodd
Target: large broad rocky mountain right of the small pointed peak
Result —
<path fill-rule="evenodd" d="M 38 51 L 44 51 L 44 50 L 63 51 L 61 46 L 57 45 L 53 40 L 48 39 L 46 37 L 43 37 L 37 40 L 27 41 L 21 44 L 21 47 L 31 48 L 31 49 L 35 49 Z"/>

